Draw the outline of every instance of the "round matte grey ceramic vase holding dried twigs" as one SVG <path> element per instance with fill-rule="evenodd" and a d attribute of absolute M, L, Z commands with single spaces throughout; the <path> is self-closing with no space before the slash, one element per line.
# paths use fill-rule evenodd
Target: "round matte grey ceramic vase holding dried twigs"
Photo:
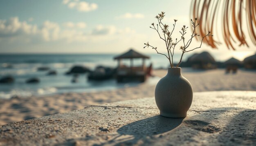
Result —
<path fill-rule="evenodd" d="M 180 67 L 169 67 L 155 87 L 155 102 L 164 117 L 186 117 L 193 100 L 192 86 Z"/>

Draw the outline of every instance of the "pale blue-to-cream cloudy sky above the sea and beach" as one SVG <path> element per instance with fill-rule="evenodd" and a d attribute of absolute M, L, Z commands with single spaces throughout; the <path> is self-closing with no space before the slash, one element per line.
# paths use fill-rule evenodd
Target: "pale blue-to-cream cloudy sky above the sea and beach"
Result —
<path fill-rule="evenodd" d="M 149 28 L 155 15 L 166 12 L 164 22 L 170 26 L 177 19 L 175 34 L 179 34 L 190 23 L 190 4 L 190 0 L 2 0 L 0 53 L 120 53 L 130 47 L 154 53 L 143 46 L 149 41 L 164 48 Z M 198 45 L 193 41 L 191 46 Z M 216 50 L 203 44 L 195 52 L 204 50 L 238 58 L 256 51 L 255 46 L 231 51 L 224 45 Z"/>

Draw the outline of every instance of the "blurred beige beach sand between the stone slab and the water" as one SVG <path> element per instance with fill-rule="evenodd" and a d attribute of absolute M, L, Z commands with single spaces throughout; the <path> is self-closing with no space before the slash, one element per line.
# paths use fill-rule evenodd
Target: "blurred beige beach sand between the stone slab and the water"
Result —
<path fill-rule="evenodd" d="M 159 77 L 166 75 L 166 70 L 154 70 Z M 256 91 L 256 72 L 238 70 L 236 74 L 225 74 L 225 70 L 182 72 L 193 86 L 194 92 L 200 91 Z M 65 93 L 44 97 L 12 98 L 0 100 L 0 125 L 25 119 L 63 113 L 85 106 L 153 97 L 155 85 L 140 84 L 97 93 Z"/>

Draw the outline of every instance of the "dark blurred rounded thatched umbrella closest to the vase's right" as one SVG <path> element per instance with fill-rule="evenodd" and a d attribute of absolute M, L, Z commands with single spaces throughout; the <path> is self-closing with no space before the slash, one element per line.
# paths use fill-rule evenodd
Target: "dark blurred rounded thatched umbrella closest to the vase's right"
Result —
<path fill-rule="evenodd" d="M 216 68 L 216 62 L 214 58 L 208 52 L 202 52 L 197 55 L 193 55 L 190 58 L 192 67 L 195 69 L 213 69 Z"/>

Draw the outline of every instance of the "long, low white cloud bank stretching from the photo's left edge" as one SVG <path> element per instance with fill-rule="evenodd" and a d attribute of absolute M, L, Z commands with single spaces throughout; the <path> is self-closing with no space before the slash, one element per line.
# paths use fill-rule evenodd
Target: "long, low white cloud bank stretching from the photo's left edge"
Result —
<path fill-rule="evenodd" d="M 117 29 L 115 26 L 98 25 L 92 31 L 83 31 L 86 27 L 85 22 L 65 22 L 62 25 L 45 21 L 40 26 L 29 24 L 26 21 L 20 21 L 18 17 L 0 20 L 0 41 L 19 42 L 51 42 L 63 40 L 65 42 L 84 42 L 87 40 L 97 41 L 111 40 L 119 38 L 120 35 L 134 33 L 130 28 Z M 5 41 L 4 40 L 4 41 Z"/>

